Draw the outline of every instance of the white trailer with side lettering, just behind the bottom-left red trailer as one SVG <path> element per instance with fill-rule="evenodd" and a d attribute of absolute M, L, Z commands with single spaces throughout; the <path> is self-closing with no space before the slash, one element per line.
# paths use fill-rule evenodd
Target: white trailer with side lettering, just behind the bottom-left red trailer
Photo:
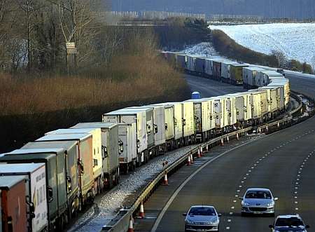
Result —
<path fill-rule="evenodd" d="M 0 176 L 19 176 L 25 179 L 26 199 L 20 200 L 27 202 L 29 230 L 37 232 L 48 228 L 45 163 L 1 163 Z M 30 213 L 35 217 L 30 217 Z"/>

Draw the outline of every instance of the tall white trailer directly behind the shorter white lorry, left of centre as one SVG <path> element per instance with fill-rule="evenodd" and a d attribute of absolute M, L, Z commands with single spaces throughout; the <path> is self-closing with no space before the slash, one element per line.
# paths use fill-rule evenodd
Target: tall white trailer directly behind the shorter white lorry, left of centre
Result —
<path fill-rule="evenodd" d="M 148 149 L 148 139 L 146 134 L 146 111 L 123 111 L 121 109 L 103 115 L 104 123 L 125 123 L 137 125 L 137 163 L 144 162 L 144 153 Z"/>

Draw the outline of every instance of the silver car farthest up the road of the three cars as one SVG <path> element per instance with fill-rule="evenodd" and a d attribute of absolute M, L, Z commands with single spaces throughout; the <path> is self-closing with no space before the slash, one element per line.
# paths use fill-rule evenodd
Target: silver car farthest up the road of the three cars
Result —
<path fill-rule="evenodd" d="M 241 199 L 241 215 L 270 214 L 274 217 L 274 198 L 269 189 L 247 189 Z"/>

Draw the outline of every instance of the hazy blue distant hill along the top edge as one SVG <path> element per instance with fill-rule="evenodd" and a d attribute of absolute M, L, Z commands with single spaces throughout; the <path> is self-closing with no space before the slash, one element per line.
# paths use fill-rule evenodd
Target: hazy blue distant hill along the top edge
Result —
<path fill-rule="evenodd" d="M 111 5 L 113 11 L 174 11 L 207 15 L 260 15 L 265 18 L 315 18 L 314 0 L 112 0 Z"/>

